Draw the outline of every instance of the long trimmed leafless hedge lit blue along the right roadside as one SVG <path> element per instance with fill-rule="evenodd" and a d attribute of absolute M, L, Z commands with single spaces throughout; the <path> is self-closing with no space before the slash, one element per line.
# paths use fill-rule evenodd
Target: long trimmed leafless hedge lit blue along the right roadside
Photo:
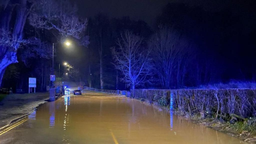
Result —
<path fill-rule="evenodd" d="M 244 119 L 256 116 L 256 89 L 136 89 L 132 98 L 170 106 L 200 118 Z"/>

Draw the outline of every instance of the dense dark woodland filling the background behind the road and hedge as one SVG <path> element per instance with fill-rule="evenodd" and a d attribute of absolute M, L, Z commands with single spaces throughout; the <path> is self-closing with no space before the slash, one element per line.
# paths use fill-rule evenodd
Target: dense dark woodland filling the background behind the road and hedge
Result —
<path fill-rule="evenodd" d="M 58 77 L 60 63 L 61 81 L 81 80 L 82 85 L 94 88 L 178 89 L 256 80 L 253 9 L 216 12 L 169 3 L 159 16 L 152 17 L 154 26 L 149 26 L 129 16 L 109 18 L 104 13 L 81 18 L 76 5 L 66 7 L 68 1 L 62 5 L 65 11 L 52 17 L 43 15 L 45 11 L 38 8 L 40 3 L 36 1 L 23 0 L 18 6 L 16 3 L 19 2 L 8 1 L 0 7 L 0 61 L 11 48 L 17 55 L 16 61 L 3 68 L 4 74 L 1 70 L 1 87 L 27 89 L 28 77 L 36 77 L 37 89 L 45 91 L 52 73 L 52 43 L 56 42 L 54 74 Z M 24 16 L 24 27 L 19 29 L 22 34 L 16 36 L 22 39 L 14 41 L 21 3 L 31 9 Z M 69 21 L 67 18 L 63 22 L 63 17 L 76 17 L 78 25 L 71 23 L 67 27 L 74 26 L 73 30 L 79 33 L 65 31 L 63 27 Z M 39 25 L 38 19 L 46 24 Z M 9 37 L 12 44 L 3 43 Z M 26 43 L 31 38 L 39 42 Z M 65 38 L 72 41 L 69 49 L 61 44 Z M 63 66 L 63 61 L 68 61 L 70 67 Z M 2 63 L 3 60 L 1 66 Z"/>

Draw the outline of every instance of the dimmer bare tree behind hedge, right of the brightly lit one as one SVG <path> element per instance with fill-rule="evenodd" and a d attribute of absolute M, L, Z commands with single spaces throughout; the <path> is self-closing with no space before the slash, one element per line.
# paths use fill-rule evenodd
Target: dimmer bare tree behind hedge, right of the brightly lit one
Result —
<path fill-rule="evenodd" d="M 162 87 L 170 88 L 175 77 L 179 85 L 180 79 L 184 76 L 181 73 L 185 72 L 185 67 L 182 65 L 184 65 L 185 55 L 189 48 L 187 40 L 172 28 L 160 27 L 152 36 L 149 46 L 154 51 L 152 53 L 154 68 Z M 176 76 L 174 72 L 177 72 Z"/>

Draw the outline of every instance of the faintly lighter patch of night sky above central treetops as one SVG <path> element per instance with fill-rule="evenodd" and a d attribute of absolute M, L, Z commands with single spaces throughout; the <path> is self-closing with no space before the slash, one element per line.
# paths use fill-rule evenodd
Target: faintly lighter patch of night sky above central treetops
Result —
<path fill-rule="evenodd" d="M 110 18 L 130 16 L 132 20 L 144 20 L 152 24 L 164 5 L 172 0 L 76 0 L 79 14 L 94 16 L 102 12 Z"/>

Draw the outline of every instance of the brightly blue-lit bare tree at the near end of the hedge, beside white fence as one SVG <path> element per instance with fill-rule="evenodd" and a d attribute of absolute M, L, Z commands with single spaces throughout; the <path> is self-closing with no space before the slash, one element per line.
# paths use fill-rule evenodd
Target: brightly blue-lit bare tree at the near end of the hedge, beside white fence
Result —
<path fill-rule="evenodd" d="M 112 48 L 115 68 L 123 74 L 120 79 L 133 90 L 136 85 L 147 82 L 147 76 L 152 74 L 149 64 L 150 51 L 142 47 L 142 40 L 140 36 L 125 31 L 117 40 L 117 46 Z"/>

